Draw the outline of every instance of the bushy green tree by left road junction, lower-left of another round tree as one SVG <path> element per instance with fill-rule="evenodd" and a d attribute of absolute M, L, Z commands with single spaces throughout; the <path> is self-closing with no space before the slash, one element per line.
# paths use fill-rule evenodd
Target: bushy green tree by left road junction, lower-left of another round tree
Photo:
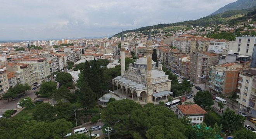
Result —
<path fill-rule="evenodd" d="M 41 85 L 40 85 L 40 88 L 39 88 L 39 94 L 47 94 L 48 97 L 50 97 L 53 93 L 53 90 L 56 89 L 56 86 L 57 86 L 57 83 L 55 83 L 54 81 L 46 81 L 46 82 L 43 82 Z"/>

